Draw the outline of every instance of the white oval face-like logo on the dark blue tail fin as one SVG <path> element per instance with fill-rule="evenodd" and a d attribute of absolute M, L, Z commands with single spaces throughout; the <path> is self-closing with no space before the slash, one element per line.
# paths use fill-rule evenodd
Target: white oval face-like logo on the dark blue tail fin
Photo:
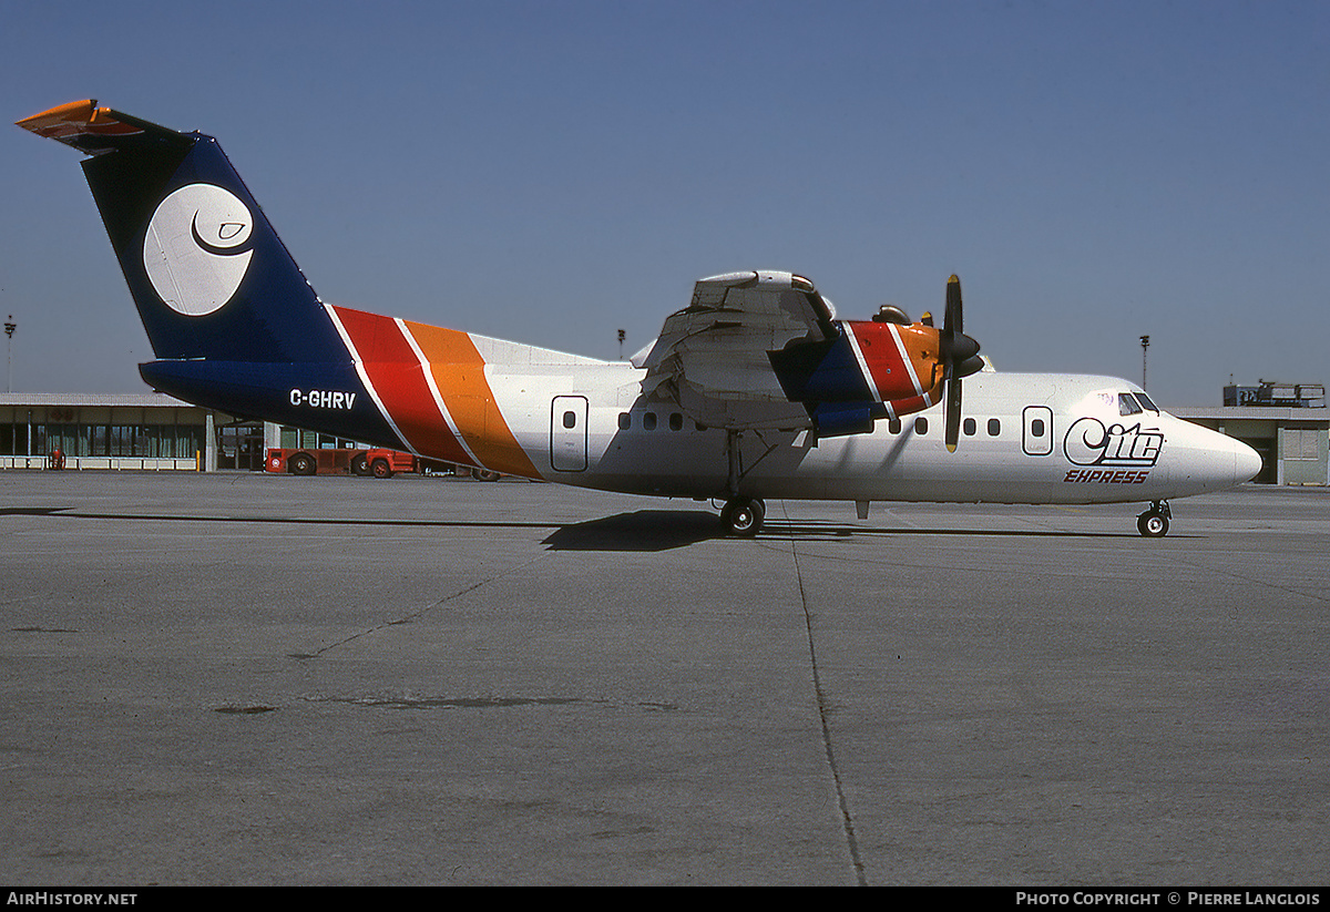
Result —
<path fill-rule="evenodd" d="M 144 269 L 157 296 L 186 316 L 223 307 L 249 271 L 253 231 L 254 215 L 230 190 L 189 183 L 170 193 L 144 237 Z"/>

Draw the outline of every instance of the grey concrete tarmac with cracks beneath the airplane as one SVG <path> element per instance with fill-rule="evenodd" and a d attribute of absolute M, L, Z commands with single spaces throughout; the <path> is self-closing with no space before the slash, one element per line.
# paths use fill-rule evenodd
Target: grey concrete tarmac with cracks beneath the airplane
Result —
<path fill-rule="evenodd" d="M 0 473 L 15 884 L 1325 883 L 1330 492 Z"/>

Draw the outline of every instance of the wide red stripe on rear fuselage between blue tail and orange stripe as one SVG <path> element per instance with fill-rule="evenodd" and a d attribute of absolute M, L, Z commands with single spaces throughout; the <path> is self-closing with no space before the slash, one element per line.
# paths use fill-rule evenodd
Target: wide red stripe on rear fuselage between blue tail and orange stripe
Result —
<path fill-rule="evenodd" d="M 426 383 L 420 359 L 396 322 L 359 310 L 334 310 L 360 355 L 374 394 L 406 437 L 407 445 L 422 456 L 469 465 L 471 457 L 448 431 Z"/>

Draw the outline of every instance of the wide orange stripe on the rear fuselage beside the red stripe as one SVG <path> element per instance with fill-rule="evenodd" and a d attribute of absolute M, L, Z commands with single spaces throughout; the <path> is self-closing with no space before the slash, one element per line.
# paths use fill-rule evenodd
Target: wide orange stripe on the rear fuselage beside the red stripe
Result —
<path fill-rule="evenodd" d="M 493 391 L 485 380 L 485 362 L 471 336 L 424 323 L 403 323 L 430 362 L 430 374 L 452 423 L 481 465 L 505 475 L 539 479 L 540 473 L 495 404 Z"/>

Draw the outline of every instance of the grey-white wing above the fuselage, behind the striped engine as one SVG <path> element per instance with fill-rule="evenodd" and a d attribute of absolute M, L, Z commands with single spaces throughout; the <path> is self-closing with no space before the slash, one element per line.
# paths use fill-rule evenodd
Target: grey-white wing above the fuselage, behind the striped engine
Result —
<path fill-rule="evenodd" d="M 678 403 L 693 420 L 724 428 L 809 427 L 790 401 L 770 352 L 835 336 L 835 310 L 790 273 L 730 273 L 701 279 L 670 314 L 638 367 L 644 390 Z"/>

